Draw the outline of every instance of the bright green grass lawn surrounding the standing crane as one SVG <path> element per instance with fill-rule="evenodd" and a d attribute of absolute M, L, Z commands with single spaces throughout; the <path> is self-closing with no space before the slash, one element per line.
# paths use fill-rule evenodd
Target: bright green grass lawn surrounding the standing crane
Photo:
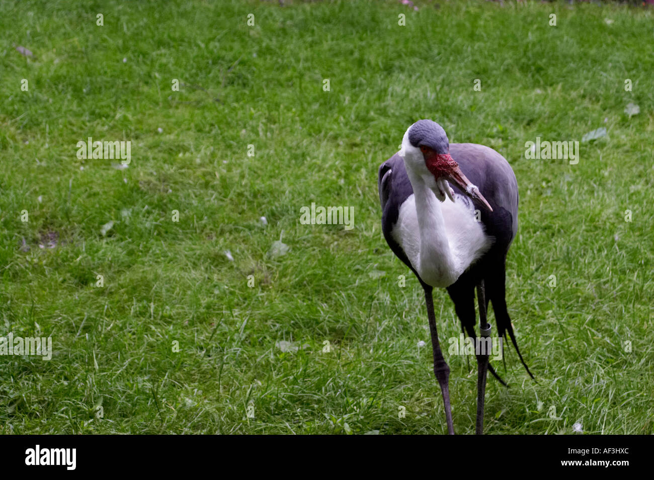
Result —
<path fill-rule="evenodd" d="M 0 357 L 0 432 L 446 432 L 376 178 L 432 118 L 504 154 L 520 187 L 507 300 L 538 383 L 509 349 L 485 432 L 654 433 L 651 9 L 417 5 L 1 3 L 0 335 L 51 336 L 54 355 Z M 599 127 L 577 165 L 525 158 L 536 136 Z M 88 136 L 131 141 L 129 168 L 77 159 Z M 311 202 L 354 206 L 354 229 L 301 225 Z M 458 320 L 434 296 L 446 342 Z M 446 357 L 472 433 L 475 361 Z"/>

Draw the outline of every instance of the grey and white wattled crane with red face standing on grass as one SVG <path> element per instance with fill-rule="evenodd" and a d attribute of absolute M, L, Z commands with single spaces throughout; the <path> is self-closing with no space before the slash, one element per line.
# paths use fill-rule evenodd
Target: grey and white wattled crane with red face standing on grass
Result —
<path fill-rule="evenodd" d="M 483 191 L 484 195 L 481 194 Z M 388 246 L 417 276 L 427 306 L 434 351 L 434 375 L 445 404 L 447 431 L 454 434 L 449 400 L 449 366 L 438 342 L 434 287 L 444 287 L 455 304 L 462 332 L 475 335 L 475 287 L 482 337 L 490 336 L 489 302 L 500 338 L 507 333 L 528 374 L 506 309 L 506 254 L 518 227 L 518 185 L 509 163 L 487 146 L 450 144 L 432 120 L 413 123 L 400 152 L 379 166 L 382 231 Z M 488 344 L 487 344 L 488 345 Z M 477 419 L 483 431 L 488 349 L 476 352 Z"/>

